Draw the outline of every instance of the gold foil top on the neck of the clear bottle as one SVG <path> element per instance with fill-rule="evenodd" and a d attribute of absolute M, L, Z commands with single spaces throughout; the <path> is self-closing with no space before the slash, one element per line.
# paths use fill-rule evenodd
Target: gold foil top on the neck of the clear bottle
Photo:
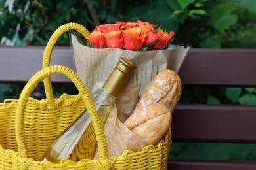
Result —
<path fill-rule="evenodd" d="M 117 97 L 123 85 L 131 75 L 131 71 L 136 69 L 136 65 L 125 58 L 119 58 L 116 68 L 112 71 L 111 75 L 106 80 L 103 88 L 111 95 Z"/>

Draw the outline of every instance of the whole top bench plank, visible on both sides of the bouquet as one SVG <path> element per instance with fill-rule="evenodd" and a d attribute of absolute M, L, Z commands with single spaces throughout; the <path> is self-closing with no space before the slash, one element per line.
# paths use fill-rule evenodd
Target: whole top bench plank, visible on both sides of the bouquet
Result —
<path fill-rule="evenodd" d="M 28 81 L 41 69 L 43 50 L 43 46 L 0 46 L 0 81 Z M 54 47 L 53 64 L 75 69 L 72 49 Z M 255 86 L 255 65 L 255 49 L 192 48 L 179 75 L 184 85 Z M 53 76 L 52 81 L 69 80 Z"/>

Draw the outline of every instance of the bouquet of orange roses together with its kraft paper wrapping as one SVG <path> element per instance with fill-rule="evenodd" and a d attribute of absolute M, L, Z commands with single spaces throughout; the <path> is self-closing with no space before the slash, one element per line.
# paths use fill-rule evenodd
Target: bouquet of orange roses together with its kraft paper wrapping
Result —
<path fill-rule="evenodd" d="M 175 38 L 149 22 L 115 22 L 98 25 L 85 41 L 75 33 L 72 37 L 77 74 L 94 97 L 102 88 L 118 58 L 135 63 L 137 69 L 129 83 L 140 83 L 140 95 L 152 78 L 163 69 L 179 71 L 189 48 L 170 45 Z"/>

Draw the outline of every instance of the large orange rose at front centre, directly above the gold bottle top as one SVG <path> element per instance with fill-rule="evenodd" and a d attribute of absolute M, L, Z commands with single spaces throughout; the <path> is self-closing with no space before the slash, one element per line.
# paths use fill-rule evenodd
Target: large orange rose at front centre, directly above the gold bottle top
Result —
<path fill-rule="evenodd" d="M 123 48 L 125 50 L 140 50 L 144 45 L 146 36 L 141 34 L 139 27 L 122 31 Z"/>

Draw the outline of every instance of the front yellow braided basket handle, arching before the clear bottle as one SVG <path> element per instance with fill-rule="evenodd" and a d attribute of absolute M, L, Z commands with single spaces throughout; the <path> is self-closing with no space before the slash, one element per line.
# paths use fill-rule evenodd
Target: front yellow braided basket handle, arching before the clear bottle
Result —
<path fill-rule="evenodd" d="M 15 117 L 15 134 L 16 141 L 18 144 L 18 152 L 20 156 L 23 158 L 28 158 L 27 152 L 27 141 L 25 137 L 25 129 L 24 129 L 24 111 L 26 107 L 26 103 L 28 102 L 28 98 L 30 94 L 33 92 L 35 87 L 42 82 L 45 78 L 53 75 L 54 73 L 62 74 L 72 80 L 75 84 L 76 88 L 81 93 L 81 97 L 83 98 L 83 102 L 85 103 L 85 107 L 89 112 L 89 116 L 91 116 L 91 120 L 93 122 L 93 127 L 95 129 L 96 140 L 98 141 L 98 148 L 100 150 L 100 159 L 106 160 L 108 159 L 108 148 L 106 143 L 106 137 L 104 133 L 104 129 L 102 127 L 100 118 L 96 112 L 95 106 L 91 99 L 85 84 L 79 78 L 79 76 L 69 69 L 68 67 L 62 65 L 52 65 L 41 69 L 41 71 L 37 72 L 26 84 L 22 93 L 20 94 L 20 98 L 18 99 L 17 109 L 16 109 L 16 117 Z"/>

